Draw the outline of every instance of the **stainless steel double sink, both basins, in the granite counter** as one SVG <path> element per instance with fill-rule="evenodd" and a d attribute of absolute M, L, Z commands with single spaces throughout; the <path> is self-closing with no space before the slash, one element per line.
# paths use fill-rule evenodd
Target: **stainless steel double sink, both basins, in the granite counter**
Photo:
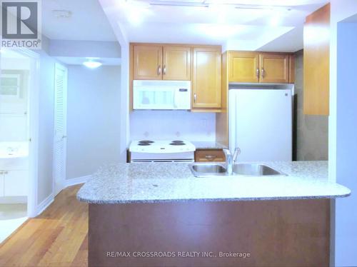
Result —
<path fill-rule="evenodd" d="M 190 164 L 189 168 L 191 169 L 193 175 L 196 177 L 228 175 L 226 166 L 224 166 L 222 163 L 194 163 Z M 286 174 L 260 163 L 236 163 L 233 165 L 232 175 L 285 176 Z"/>

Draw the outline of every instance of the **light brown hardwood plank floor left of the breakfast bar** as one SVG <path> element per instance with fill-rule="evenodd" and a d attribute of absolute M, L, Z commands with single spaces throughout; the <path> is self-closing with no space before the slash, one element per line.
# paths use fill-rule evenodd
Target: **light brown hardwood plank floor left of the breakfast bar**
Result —
<path fill-rule="evenodd" d="M 0 245 L 0 266 L 87 266 L 88 204 L 76 200 L 81 185 L 56 196 Z"/>

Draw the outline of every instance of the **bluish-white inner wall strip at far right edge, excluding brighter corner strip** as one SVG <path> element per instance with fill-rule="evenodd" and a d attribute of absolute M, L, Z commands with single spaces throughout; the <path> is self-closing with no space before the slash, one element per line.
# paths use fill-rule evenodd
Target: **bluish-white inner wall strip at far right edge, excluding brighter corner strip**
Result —
<path fill-rule="evenodd" d="M 357 3 L 356 3 L 357 4 Z M 338 24 L 337 182 L 351 189 L 336 200 L 336 266 L 357 266 L 357 23 Z"/>

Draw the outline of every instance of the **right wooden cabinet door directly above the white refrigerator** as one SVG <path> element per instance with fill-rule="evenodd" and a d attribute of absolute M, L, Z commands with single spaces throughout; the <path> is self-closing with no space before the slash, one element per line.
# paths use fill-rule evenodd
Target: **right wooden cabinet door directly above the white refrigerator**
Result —
<path fill-rule="evenodd" d="M 261 83 L 288 84 L 289 56 L 287 54 L 263 53 L 259 58 Z"/>

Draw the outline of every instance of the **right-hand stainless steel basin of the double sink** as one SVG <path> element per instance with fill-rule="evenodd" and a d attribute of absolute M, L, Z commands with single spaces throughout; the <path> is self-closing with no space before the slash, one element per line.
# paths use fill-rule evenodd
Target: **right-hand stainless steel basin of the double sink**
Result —
<path fill-rule="evenodd" d="M 249 175 L 249 176 L 268 176 L 268 175 L 286 175 L 281 171 L 276 171 L 273 168 L 257 163 L 238 163 L 233 166 L 233 175 Z"/>

